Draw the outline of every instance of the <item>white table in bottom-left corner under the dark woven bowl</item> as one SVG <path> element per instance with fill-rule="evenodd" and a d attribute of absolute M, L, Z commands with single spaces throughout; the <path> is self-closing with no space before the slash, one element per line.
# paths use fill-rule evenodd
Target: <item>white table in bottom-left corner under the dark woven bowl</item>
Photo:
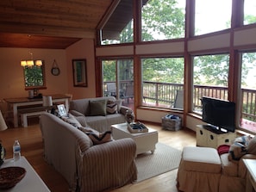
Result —
<path fill-rule="evenodd" d="M 1 168 L 10 166 L 23 167 L 27 172 L 25 177 L 22 178 L 21 182 L 17 183 L 16 186 L 11 189 L 3 190 L 3 192 L 50 191 L 47 188 L 47 185 L 41 180 L 41 177 L 37 175 L 31 164 L 28 163 L 28 160 L 25 157 L 22 156 L 21 159 L 18 161 L 14 161 L 12 158 L 6 159 Z"/>

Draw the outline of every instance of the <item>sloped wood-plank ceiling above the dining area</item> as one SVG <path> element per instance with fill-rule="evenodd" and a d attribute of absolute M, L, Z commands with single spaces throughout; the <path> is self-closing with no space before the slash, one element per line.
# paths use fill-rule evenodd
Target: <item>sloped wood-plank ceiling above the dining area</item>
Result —
<path fill-rule="evenodd" d="M 66 48 L 82 38 L 95 38 L 98 23 L 115 2 L 1 0 L 0 46 Z"/>

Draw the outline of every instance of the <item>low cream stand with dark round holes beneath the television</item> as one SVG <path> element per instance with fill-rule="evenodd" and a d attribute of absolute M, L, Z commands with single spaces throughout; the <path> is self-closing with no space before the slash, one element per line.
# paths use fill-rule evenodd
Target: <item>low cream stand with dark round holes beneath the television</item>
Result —
<path fill-rule="evenodd" d="M 225 132 L 210 125 L 197 125 L 197 146 L 208 146 L 217 148 L 221 145 L 231 146 L 236 133 Z"/>

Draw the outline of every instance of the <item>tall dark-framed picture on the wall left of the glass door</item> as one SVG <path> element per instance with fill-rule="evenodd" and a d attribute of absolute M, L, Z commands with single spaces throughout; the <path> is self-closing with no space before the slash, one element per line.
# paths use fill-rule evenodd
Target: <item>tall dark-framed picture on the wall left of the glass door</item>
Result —
<path fill-rule="evenodd" d="M 86 59 L 72 59 L 74 87 L 87 87 Z"/>

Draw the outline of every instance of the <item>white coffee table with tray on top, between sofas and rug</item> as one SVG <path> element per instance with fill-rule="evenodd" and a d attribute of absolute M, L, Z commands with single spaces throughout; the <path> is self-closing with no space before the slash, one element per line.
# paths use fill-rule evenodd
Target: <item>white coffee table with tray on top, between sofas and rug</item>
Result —
<path fill-rule="evenodd" d="M 113 139 L 134 139 L 137 146 L 136 155 L 149 151 L 153 153 L 155 150 L 155 145 L 159 140 L 159 133 L 153 128 L 147 128 L 147 133 L 130 133 L 128 131 L 127 123 L 121 123 L 111 126 Z"/>

